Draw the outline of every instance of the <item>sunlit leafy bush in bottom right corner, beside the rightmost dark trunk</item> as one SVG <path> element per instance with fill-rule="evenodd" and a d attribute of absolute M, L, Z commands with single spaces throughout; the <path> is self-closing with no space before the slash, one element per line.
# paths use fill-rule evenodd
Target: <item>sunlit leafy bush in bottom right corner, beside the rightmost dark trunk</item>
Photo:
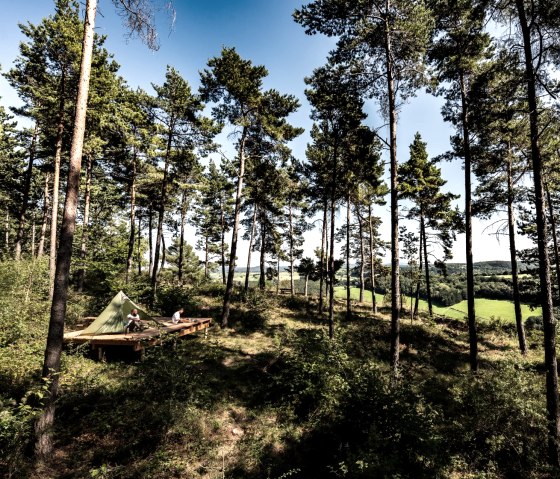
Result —
<path fill-rule="evenodd" d="M 531 477 L 545 463 L 546 401 L 538 375 L 505 364 L 465 374 L 450 393 L 448 448 L 472 469 Z"/>

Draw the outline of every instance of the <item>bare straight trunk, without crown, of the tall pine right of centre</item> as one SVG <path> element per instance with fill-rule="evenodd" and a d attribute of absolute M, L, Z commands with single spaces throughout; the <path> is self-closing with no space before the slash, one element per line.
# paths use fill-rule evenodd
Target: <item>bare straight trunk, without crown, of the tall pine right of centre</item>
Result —
<path fill-rule="evenodd" d="M 386 1 L 389 11 L 389 0 Z M 389 135 L 391 161 L 391 370 L 396 378 L 399 370 L 400 350 L 400 324 L 399 324 L 399 299 L 400 265 L 399 265 L 399 202 L 398 202 L 398 176 L 397 176 L 397 113 L 395 105 L 395 84 L 393 79 L 393 51 L 391 44 L 391 29 L 389 20 L 385 24 L 385 63 L 387 65 L 387 100 L 389 103 Z"/>

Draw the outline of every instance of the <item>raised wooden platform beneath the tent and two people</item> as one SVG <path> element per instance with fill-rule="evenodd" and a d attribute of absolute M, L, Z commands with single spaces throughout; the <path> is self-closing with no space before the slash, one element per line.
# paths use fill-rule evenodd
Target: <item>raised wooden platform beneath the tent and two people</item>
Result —
<path fill-rule="evenodd" d="M 210 318 L 195 318 L 173 324 L 171 318 L 154 319 L 159 323 L 159 326 L 152 326 L 144 331 L 128 334 L 87 334 L 83 336 L 80 335 L 81 331 L 71 331 L 64 333 L 64 342 L 66 344 L 90 344 L 94 351 L 98 351 L 101 358 L 104 346 L 123 346 L 130 347 L 133 351 L 143 351 L 146 347 L 154 346 L 160 342 L 162 336 L 166 334 L 175 334 L 181 337 L 204 330 L 204 335 L 206 336 L 212 322 Z M 149 325 L 150 322 L 145 322 L 144 324 Z"/>

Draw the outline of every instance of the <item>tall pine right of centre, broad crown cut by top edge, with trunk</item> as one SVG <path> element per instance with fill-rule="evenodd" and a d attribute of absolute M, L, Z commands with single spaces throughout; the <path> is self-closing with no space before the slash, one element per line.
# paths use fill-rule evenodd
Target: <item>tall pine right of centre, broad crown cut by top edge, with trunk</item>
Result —
<path fill-rule="evenodd" d="M 391 367 L 399 363 L 399 250 L 397 198 L 397 112 L 399 98 L 414 94 L 422 81 L 423 54 L 432 28 L 424 2 L 326 0 L 303 6 L 295 20 L 309 34 L 339 37 L 332 59 L 361 80 L 364 93 L 380 101 L 389 124 L 391 165 Z"/>

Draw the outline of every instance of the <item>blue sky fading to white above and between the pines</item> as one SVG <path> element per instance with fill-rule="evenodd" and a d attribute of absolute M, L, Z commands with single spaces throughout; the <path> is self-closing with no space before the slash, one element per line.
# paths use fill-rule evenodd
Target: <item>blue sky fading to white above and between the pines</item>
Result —
<path fill-rule="evenodd" d="M 157 3 L 157 2 L 156 2 Z M 159 0 L 160 5 L 164 4 Z M 309 105 L 304 95 L 304 77 L 322 65 L 334 40 L 321 36 L 305 35 L 303 28 L 291 17 L 302 0 L 175 0 L 175 22 L 171 25 L 164 12 L 158 14 L 160 49 L 151 52 L 138 39 L 127 38 L 121 20 L 115 14 L 110 0 L 100 0 L 96 30 L 107 35 L 106 48 L 121 65 L 120 74 L 132 87 L 140 86 L 152 92 L 151 83 L 161 84 L 166 65 L 175 67 L 188 82 L 197 88 L 199 71 L 204 69 L 209 58 L 217 56 L 223 46 L 235 47 L 239 54 L 255 64 L 266 66 L 269 76 L 265 88 L 275 88 L 282 93 L 291 93 L 300 99 L 302 107 L 291 117 L 293 124 L 306 129 L 306 133 L 291 145 L 298 158 L 305 157 L 305 146 L 311 128 Z M 38 23 L 51 14 L 54 2 L 50 0 L 25 0 L 5 2 L 0 20 L 0 64 L 2 70 L 11 68 L 18 54 L 18 44 L 23 37 L 18 22 Z M 8 107 L 18 103 L 17 96 L 2 78 L 0 79 L 0 102 Z M 441 100 L 423 92 L 405 105 L 399 116 L 398 157 L 408 158 L 408 145 L 415 132 L 419 131 L 428 144 L 431 156 L 449 148 L 449 126 L 441 120 Z M 377 105 L 367 105 L 370 117 L 367 123 L 378 127 Z M 224 149 L 228 150 L 227 138 L 220 137 Z M 462 194 L 463 170 L 460 163 L 445 163 L 442 166 L 447 188 Z M 461 207 L 462 199 L 459 200 Z M 389 239 L 389 215 L 386 208 L 379 214 L 384 219 L 383 236 Z M 341 216 L 345 216 L 342 213 Z M 507 241 L 499 244 L 484 232 L 486 224 L 475 220 L 474 259 L 484 261 L 509 259 Z M 192 234 L 192 231 L 191 231 Z M 317 230 L 307 234 L 306 251 L 312 255 L 320 238 Z M 194 241 L 192 241 L 194 243 Z M 240 263 L 244 264 L 246 247 L 240 248 Z M 464 239 L 460 236 L 454 247 L 454 261 L 464 262 Z"/>

